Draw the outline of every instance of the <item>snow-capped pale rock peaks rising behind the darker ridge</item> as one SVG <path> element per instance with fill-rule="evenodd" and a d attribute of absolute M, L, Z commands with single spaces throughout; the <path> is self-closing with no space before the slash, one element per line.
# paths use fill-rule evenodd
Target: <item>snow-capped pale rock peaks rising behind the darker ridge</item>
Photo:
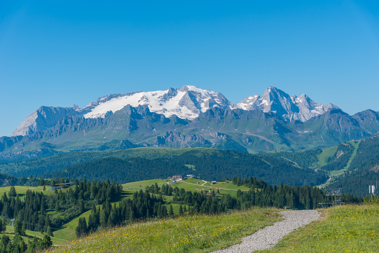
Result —
<path fill-rule="evenodd" d="M 262 110 L 274 112 L 285 121 L 300 120 L 302 122 L 324 114 L 328 109 L 337 106 L 317 103 L 307 95 L 290 96 L 276 87 L 268 87 L 262 97 L 258 94 L 244 98 L 241 102 L 233 104 L 219 92 L 200 89 L 195 86 L 182 88 L 169 88 L 166 91 L 130 92 L 126 94 L 111 94 L 99 97 L 96 102 L 87 106 L 73 107 L 47 107 L 41 106 L 32 112 L 22 122 L 12 136 L 29 136 L 35 131 L 44 131 L 52 128 L 58 120 L 66 116 L 79 116 L 85 118 L 105 118 L 126 105 L 137 107 L 147 105 L 150 112 L 163 114 L 166 117 L 176 115 L 182 119 L 193 120 L 210 108 L 243 109 L 247 111 Z"/>

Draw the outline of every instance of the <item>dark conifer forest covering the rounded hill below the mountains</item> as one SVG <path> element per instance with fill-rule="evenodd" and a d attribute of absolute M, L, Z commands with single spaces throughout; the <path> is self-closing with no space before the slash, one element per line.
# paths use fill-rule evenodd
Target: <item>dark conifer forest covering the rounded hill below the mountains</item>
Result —
<path fill-rule="evenodd" d="M 299 168 L 289 161 L 230 150 L 217 150 L 210 153 L 190 150 L 181 155 L 153 159 L 106 157 L 69 166 L 41 177 L 85 177 L 97 181 L 110 178 L 119 183 L 128 183 L 160 176 L 167 178 L 177 173 L 186 175 L 193 172 L 185 166 L 188 164 L 208 181 L 220 181 L 233 176 L 255 176 L 264 179 L 269 184 L 318 185 L 326 180 L 323 173 L 315 173 L 309 168 Z"/>

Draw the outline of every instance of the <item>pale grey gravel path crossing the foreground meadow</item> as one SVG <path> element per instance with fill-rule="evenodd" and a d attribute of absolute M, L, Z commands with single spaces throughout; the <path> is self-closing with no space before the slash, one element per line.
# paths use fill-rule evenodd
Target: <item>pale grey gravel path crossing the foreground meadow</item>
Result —
<path fill-rule="evenodd" d="M 285 220 L 275 222 L 272 226 L 266 226 L 242 238 L 240 244 L 235 244 L 224 250 L 213 251 L 212 253 L 251 253 L 255 250 L 263 250 L 274 247 L 284 235 L 310 223 L 312 220 L 321 218 L 321 213 L 317 210 L 296 210 L 280 212 Z"/>

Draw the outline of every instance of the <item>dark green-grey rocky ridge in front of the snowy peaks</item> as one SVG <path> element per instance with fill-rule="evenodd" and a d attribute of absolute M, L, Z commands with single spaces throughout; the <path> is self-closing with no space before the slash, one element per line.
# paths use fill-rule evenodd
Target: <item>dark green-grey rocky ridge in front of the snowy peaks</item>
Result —
<path fill-rule="evenodd" d="M 112 150 L 121 144 L 124 148 L 212 147 L 243 152 L 328 148 L 371 136 L 360 124 L 379 131 L 376 115 L 365 112 L 358 121 L 357 116 L 332 109 L 305 122 L 287 122 L 274 112 L 214 107 L 188 120 L 151 112 L 147 105 L 127 105 L 105 118 L 66 116 L 53 128 L 30 136 L 2 137 L 0 160 Z"/>

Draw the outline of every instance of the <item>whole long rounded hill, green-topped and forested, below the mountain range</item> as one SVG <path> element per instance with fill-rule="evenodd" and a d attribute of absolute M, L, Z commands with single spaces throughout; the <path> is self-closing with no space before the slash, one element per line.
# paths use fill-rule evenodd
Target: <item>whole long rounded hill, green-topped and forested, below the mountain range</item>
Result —
<path fill-rule="evenodd" d="M 262 178 L 269 184 L 317 185 L 326 180 L 323 173 L 302 169 L 289 161 L 262 155 L 214 148 L 133 148 L 120 151 L 65 153 L 0 165 L 4 172 L 46 174 L 56 177 L 86 178 L 119 183 L 141 181 L 176 173 L 200 174 L 205 180 L 240 176 Z"/>

